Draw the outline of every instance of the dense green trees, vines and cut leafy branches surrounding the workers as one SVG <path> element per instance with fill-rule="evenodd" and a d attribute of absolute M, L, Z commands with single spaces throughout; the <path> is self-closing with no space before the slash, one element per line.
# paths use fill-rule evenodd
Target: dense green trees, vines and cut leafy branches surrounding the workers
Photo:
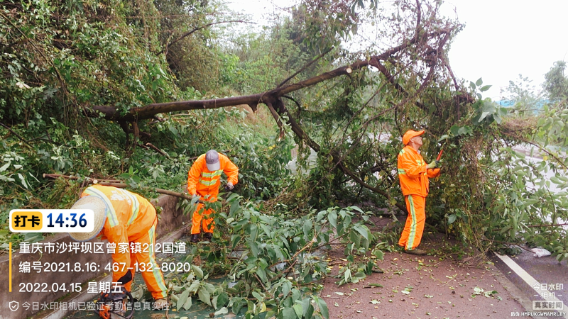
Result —
<path fill-rule="evenodd" d="M 462 26 L 440 5 L 307 0 L 265 30 L 243 31 L 244 20 L 207 0 L 1 3 L 0 244 L 24 240 L 8 231 L 13 208 L 67 208 L 84 177 L 121 179 L 148 198 L 155 187 L 182 191 L 192 160 L 214 148 L 239 166 L 240 197 L 219 216 L 219 247 L 192 254 L 243 287 L 214 288 L 196 266 L 172 279 L 185 281 L 172 291 L 178 304 L 197 294 L 251 318 L 310 318 L 314 304 L 325 316 L 320 299 L 300 296 L 326 273 L 304 253 L 338 240 L 351 262 L 381 256 L 366 213 L 334 207 L 404 209 L 396 155 L 415 128 L 427 131 L 427 161 L 444 148 L 430 225 L 480 251 L 528 244 L 568 257 L 558 225 L 568 220 L 566 64 L 547 73 L 544 96 L 511 82 L 515 106 L 503 108 L 483 98 L 481 79 L 454 76 L 447 52 Z M 346 50 L 361 28 L 373 45 Z M 164 108 L 173 101 L 187 103 Z M 43 178 L 53 172 L 80 179 Z M 229 258 L 235 247 L 247 258 Z M 282 262 L 293 277 L 274 271 Z M 346 269 L 343 283 L 373 264 Z"/>

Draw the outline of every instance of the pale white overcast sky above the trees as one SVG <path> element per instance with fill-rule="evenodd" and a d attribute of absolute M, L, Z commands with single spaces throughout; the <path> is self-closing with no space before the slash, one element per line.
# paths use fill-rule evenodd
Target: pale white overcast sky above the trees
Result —
<path fill-rule="evenodd" d="M 271 0 L 228 0 L 231 9 L 253 15 L 274 13 Z M 285 6 L 293 0 L 280 0 Z M 568 59 L 568 0 L 445 0 L 442 13 L 466 27 L 452 43 L 454 74 L 493 85 L 484 97 L 500 99 L 501 89 L 518 74 L 540 88 L 552 63 Z"/>

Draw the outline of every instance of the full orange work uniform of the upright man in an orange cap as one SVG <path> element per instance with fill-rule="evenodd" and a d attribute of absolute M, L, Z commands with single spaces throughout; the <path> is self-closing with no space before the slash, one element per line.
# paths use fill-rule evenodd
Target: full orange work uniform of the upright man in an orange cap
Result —
<path fill-rule="evenodd" d="M 422 155 L 411 146 L 398 153 L 398 180 L 405 196 L 408 218 L 398 245 L 405 250 L 414 250 L 422 240 L 426 220 L 426 196 L 430 181 L 437 177 L 439 169 L 427 169 Z"/>

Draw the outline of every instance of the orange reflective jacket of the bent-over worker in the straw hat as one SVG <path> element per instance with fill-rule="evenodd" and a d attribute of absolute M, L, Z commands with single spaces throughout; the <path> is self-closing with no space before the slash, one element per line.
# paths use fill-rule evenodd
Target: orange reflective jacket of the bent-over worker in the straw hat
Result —
<path fill-rule="evenodd" d="M 126 274 L 131 264 L 130 249 L 124 251 L 121 247 L 129 247 L 130 242 L 148 234 L 157 221 L 155 208 L 146 198 L 111 186 L 89 186 L 82 192 L 81 197 L 84 196 L 97 196 L 107 204 L 107 220 L 99 235 L 116 244 L 112 254 L 112 261 L 119 264 L 119 271 L 112 273 L 116 281 Z"/>

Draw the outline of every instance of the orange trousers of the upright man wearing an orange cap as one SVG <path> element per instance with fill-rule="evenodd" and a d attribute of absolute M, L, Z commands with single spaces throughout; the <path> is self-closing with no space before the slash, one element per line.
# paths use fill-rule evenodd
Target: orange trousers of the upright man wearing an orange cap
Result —
<path fill-rule="evenodd" d="M 398 245 L 405 250 L 413 250 L 420 245 L 424 224 L 426 223 L 426 198 L 417 195 L 405 196 L 408 217 L 404 225 L 403 234 L 400 235 Z"/>

